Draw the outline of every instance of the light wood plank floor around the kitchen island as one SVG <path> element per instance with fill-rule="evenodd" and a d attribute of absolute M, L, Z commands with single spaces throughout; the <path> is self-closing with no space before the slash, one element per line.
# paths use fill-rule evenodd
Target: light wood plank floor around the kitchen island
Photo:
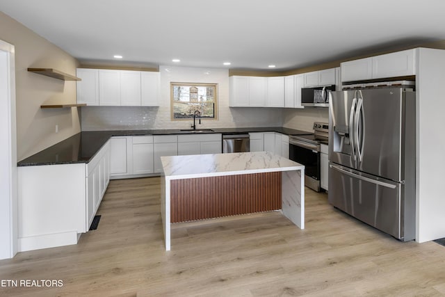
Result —
<path fill-rule="evenodd" d="M 0 261 L 0 296 L 444 296 L 445 247 L 401 243 L 306 190 L 306 229 L 279 212 L 172 228 L 163 246 L 159 178 L 111 181 L 97 230 L 79 244 Z"/>

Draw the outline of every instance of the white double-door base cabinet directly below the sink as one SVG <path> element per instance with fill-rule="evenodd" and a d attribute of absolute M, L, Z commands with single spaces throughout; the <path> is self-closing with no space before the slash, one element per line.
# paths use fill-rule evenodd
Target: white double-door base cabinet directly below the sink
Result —
<path fill-rule="evenodd" d="M 222 141 L 221 134 L 178 135 L 178 155 L 220 154 Z"/>

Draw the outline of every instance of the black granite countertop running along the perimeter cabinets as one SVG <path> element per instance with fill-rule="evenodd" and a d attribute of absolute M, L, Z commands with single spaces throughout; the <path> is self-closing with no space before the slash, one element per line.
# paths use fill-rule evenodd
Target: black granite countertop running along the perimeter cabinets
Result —
<path fill-rule="evenodd" d="M 215 128 L 200 134 L 241 134 L 248 132 L 278 132 L 286 135 L 312 134 L 312 132 L 283 127 L 254 128 Z M 102 145 L 112 136 L 170 135 L 191 134 L 179 129 L 118 130 L 118 131 L 83 131 L 65 141 L 60 141 L 37 154 L 33 154 L 17 163 L 17 166 L 56 165 L 70 163 L 88 163 L 99 152 Z"/>

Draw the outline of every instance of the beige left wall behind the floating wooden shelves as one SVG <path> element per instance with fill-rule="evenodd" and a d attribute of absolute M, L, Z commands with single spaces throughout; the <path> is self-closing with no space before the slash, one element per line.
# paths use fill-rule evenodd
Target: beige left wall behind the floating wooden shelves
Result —
<path fill-rule="evenodd" d="M 40 109 L 41 104 L 76 102 L 76 83 L 28 72 L 54 68 L 75 75 L 78 62 L 62 49 L 0 12 L 0 39 L 15 45 L 17 160 L 31 156 L 80 131 L 72 109 Z M 58 133 L 55 129 L 58 125 Z"/>

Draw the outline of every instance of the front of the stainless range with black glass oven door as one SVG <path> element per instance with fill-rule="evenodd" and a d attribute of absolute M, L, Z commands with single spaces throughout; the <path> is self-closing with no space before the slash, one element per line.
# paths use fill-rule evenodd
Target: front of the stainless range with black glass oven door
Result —
<path fill-rule="evenodd" d="M 289 159 L 305 166 L 305 186 L 320 192 L 320 145 L 289 139 Z"/>

